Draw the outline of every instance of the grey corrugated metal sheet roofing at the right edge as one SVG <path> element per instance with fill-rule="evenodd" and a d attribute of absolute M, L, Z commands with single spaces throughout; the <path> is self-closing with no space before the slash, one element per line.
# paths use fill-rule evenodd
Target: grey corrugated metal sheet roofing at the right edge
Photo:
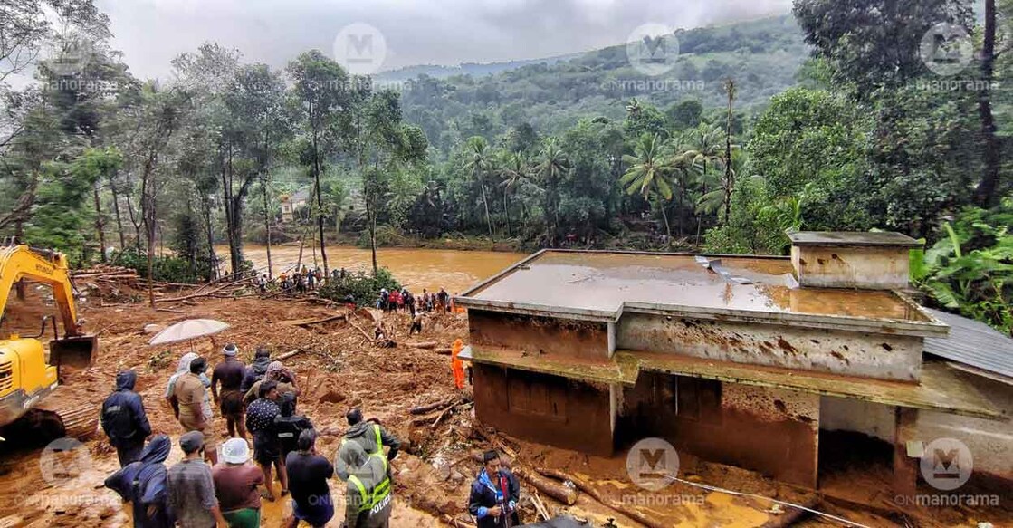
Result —
<path fill-rule="evenodd" d="M 950 327 L 949 337 L 925 337 L 925 352 L 1013 378 L 1013 337 L 988 324 L 928 309 Z"/>

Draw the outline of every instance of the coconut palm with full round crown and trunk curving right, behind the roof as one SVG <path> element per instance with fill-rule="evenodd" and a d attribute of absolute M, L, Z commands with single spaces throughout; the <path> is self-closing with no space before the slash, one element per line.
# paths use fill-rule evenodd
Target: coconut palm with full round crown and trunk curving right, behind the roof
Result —
<path fill-rule="evenodd" d="M 627 195 L 639 194 L 648 202 L 654 201 L 661 211 L 665 232 L 671 241 L 672 226 L 669 225 L 669 214 L 661 203 L 663 199 L 666 202 L 672 200 L 669 177 L 673 166 L 670 152 L 656 134 L 653 136 L 644 134 L 633 145 L 633 155 L 624 155 L 623 162 L 629 169 L 619 178 L 619 182 Z"/>

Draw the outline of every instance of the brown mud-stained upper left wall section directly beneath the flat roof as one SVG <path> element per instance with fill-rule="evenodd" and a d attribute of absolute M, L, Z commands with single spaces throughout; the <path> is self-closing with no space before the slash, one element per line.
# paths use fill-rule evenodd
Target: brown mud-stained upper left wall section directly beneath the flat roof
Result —
<path fill-rule="evenodd" d="M 535 317 L 468 310 L 468 331 L 473 345 L 492 345 L 531 353 L 582 358 L 609 357 L 608 324 L 604 322 Z"/>

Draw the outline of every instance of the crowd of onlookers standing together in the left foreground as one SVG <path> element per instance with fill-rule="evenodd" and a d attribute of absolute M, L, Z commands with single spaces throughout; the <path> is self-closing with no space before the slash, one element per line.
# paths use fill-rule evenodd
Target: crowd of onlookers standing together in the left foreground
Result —
<path fill-rule="evenodd" d="M 292 495 L 289 526 L 300 521 L 324 526 L 334 516 L 327 480 L 336 474 L 347 484 L 345 526 L 386 527 L 393 499 L 389 460 L 400 448 L 397 438 L 353 408 L 331 465 L 316 451 L 313 423 L 296 410 L 300 390 L 294 373 L 270 361 L 263 347 L 248 366 L 238 353 L 234 344 L 227 345 L 211 378 L 207 360 L 193 353 L 180 358 L 165 392 L 183 431 L 183 459 L 171 468 L 164 464 L 172 448 L 167 436 L 145 443 L 152 431 L 142 398 L 134 391 L 137 374 L 125 370 L 116 375 L 115 390 L 102 403 L 100 420 L 121 469 L 105 485 L 132 503 L 134 526 L 259 526 L 260 500 L 277 499 L 276 474 L 281 495 Z M 221 461 L 212 400 L 230 437 L 220 448 Z"/>

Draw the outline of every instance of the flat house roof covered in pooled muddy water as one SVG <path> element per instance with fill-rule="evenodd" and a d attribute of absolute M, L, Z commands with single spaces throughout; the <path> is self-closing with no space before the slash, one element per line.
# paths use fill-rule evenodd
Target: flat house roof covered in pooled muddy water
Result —
<path fill-rule="evenodd" d="M 944 324 L 897 292 L 799 288 L 786 257 L 721 255 L 708 256 L 707 262 L 703 258 L 685 253 L 543 250 L 457 301 L 469 308 L 591 320 L 616 321 L 626 310 L 946 334 Z"/>

